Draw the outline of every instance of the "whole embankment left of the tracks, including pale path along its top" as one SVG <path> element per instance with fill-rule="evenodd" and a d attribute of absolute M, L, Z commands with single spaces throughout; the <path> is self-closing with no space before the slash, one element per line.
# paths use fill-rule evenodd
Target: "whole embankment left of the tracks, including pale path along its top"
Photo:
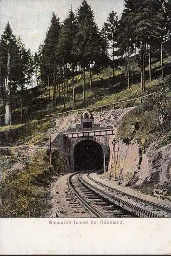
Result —
<path fill-rule="evenodd" d="M 49 187 L 68 170 L 67 160 L 55 152 L 57 168 L 49 166 L 45 146 L 0 147 L 0 217 L 44 217 L 50 206 Z"/>

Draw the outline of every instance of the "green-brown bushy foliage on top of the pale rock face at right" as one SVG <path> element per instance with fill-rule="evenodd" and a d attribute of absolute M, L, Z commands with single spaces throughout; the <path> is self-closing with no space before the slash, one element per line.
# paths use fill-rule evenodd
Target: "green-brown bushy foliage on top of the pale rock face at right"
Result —
<path fill-rule="evenodd" d="M 166 141 L 170 142 L 170 120 L 170 101 L 161 92 L 160 96 L 149 103 L 139 104 L 122 118 L 117 137 L 126 144 L 135 139 L 144 147 L 147 147 L 154 139 L 160 144 L 165 144 Z M 133 129 L 132 125 L 136 123 L 139 124 L 139 128 Z"/>

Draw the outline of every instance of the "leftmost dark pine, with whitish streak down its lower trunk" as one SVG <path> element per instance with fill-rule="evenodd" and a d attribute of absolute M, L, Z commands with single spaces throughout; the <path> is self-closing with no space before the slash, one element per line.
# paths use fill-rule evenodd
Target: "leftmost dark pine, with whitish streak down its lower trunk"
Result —
<path fill-rule="evenodd" d="M 6 124 L 11 124 L 12 110 L 18 106 L 20 99 L 20 113 L 23 118 L 23 90 L 32 79 L 31 51 L 26 50 L 22 39 L 12 34 L 9 23 L 5 27 L 0 41 L 1 52 L 1 92 L 5 106 Z"/>

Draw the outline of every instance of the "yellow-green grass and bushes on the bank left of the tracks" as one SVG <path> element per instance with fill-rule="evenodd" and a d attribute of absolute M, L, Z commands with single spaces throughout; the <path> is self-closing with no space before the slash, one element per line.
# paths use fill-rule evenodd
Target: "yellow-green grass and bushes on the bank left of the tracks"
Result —
<path fill-rule="evenodd" d="M 56 154 L 55 165 L 49 169 L 48 157 L 42 152 L 32 157 L 24 170 L 6 170 L 0 182 L 0 217 L 44 217 L 50 205 L 48 186 L 52 175 L 66 169 L 66 159 Z"/>

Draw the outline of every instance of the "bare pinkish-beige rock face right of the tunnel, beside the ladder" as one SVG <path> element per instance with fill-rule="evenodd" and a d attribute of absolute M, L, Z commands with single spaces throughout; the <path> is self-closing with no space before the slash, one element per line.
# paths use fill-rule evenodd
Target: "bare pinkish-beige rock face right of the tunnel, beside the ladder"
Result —
<path fill-rule="evenodd" d="M 135 141 L 126 145 L 119 140 L 116 145 L 116 159 L 116 177 L 119 178 L 119 184 L 141 188 L 145 185 L 145 189 L 153 194 L 162 194 L 166 187 L 170 189 L 171 144 L 159 147 L 154 142 L 143 151 Z M 110 168 L 111 166 L 109 172 Z M 114 167 L 112 177 L 114 178 Z"/>

